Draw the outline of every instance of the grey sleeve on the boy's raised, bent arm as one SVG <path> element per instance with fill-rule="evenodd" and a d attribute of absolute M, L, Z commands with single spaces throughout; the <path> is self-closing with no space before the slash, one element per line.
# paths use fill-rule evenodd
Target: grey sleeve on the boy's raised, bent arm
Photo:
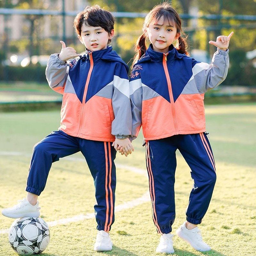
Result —
<path fill-rule="evenodd" d="M 58 53 L 52 54 L 47 61 L 45 75 L 52 90 L 63 94 L 68 77 L 68 64 L 59 59 Z"/>

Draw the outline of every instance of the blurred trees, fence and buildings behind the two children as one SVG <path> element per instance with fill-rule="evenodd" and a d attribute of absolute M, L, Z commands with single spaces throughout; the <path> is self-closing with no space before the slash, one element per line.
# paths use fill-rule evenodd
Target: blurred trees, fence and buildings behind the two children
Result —
<path fill-rule="evenodd" d="M 209 94 L 209 99 L 239 95 L 243 97 L 233 100 L 255 101 L 256 0 L 169 2 L 180 13 L 190 55 L 196 60 L 210 63 L 216 47 L 208 42 L 234 31 L 229 45 L 228 77 L 221 89 Z M 14 81 L 48 86 L 44 75 L 46 62 L 50 54 L 60 52 L 60 40 L 76 52 L 84 52 L 73 20 L 87 5 L 99 4 L 113 13 L 116 24 L 112 46 L 131 66 L 134 43 L 142 33 L 144 17 L 159 3 L 156 0 L 0 0 L 0 103 L 10 101 L 3 96 L 6 90 L 22 84 Z"/>

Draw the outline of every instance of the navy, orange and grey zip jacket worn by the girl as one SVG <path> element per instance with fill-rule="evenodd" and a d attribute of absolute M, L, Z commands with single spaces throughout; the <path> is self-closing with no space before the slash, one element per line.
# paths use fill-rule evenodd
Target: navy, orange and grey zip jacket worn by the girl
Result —
<path fill-rule="evenodd" d="M 149 46 L 132 69 L 132 139 L 142 125 L 146 140 L 205 132 L 204 93 L 221 84 L 228 73 L 228 50 L 214 53 L 212 64 Z"/>

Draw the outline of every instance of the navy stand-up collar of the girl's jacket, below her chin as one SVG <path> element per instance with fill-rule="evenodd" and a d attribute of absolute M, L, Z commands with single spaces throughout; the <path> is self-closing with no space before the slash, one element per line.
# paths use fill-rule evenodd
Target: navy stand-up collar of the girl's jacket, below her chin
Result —
<path fill-rule="evenodd" d="M 181 54 L 177 51 L 177 49 L 171 44 L 169 46 L 169 52 L 167 54 L 167 61 L 173 59 L 181 59 L 185 54 Z M 153 45 L 150 44 L 145 54 L 137 61 L 137 63 L 145 62 L 145 61 L 154 61 L 154 62 L 162 62 L 164 58 L 163 52 L 156 52 L 153 50 Z"/>

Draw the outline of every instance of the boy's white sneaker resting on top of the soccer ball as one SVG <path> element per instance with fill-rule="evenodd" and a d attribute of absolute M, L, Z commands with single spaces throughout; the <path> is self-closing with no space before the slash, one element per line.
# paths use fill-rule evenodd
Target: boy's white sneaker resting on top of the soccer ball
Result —
<path fill-rule="evenodd" d="M 23 198 L 23 200 L 18 200 L 18 204 L 14 205 L 13 207 L 2 210 L 2 214 L 5 217 L 13 219 L 24 217 L 39 217 L 40 209 L 41 208 L 39 207 L 38 201 L 36 202 L 36 205 L 32 205 L 26 198 Z"/>

